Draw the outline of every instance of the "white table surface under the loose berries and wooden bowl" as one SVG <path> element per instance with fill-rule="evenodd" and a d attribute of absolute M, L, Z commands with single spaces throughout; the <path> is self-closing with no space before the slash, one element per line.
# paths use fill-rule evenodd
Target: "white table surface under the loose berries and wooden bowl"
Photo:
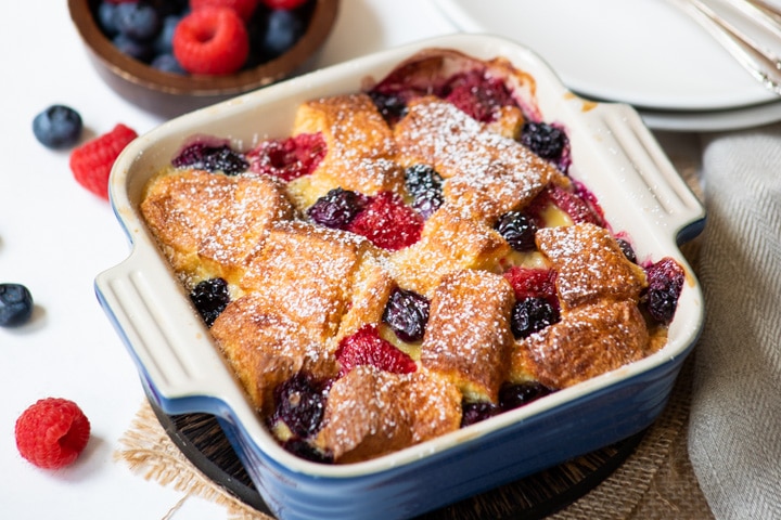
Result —
<path fill-rule="evenodd" d="M 7 2 L 2 26 L 0 282 L 26 285 L 36 308 L 28 325 L 0 328 L 0 518 L 226 518 L 195 497 L 168 517 L 184 494 L 113 459 L 144 395 L 92 284 L 129 245 L 108 204 L 73 179 L 68 152 L 44 148 L 31 132 L 34 116 L 54 103 L 79 110 L 90 135 L 117 122 L 143 133 L 162 120 L 101 81 L 64 0 Z M 343 0 L 318 64 L 453 31 L 427 1 Z M 14 442 L 18 415 L 46 396 L 75 401 L 92 425 L 86 452 L 56 471 L 25 461 Z"/>

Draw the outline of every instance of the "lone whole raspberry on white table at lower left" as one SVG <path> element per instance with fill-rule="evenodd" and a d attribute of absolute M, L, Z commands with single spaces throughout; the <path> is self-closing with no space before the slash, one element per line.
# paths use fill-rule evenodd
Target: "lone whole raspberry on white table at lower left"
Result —
<path fill-rule="evenodd" d="M 73 401 L 41 399 L 16 419 L 16 447 L 40 468 L 57 469 L 76 460 L 87 446 L 90 422 Z"/>

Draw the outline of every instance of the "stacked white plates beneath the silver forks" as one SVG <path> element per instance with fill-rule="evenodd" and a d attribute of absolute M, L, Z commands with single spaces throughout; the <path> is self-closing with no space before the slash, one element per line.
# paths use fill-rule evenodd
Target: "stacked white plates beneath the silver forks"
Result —
<path fill-rule="evenodd" d="M 664 0 L 434 0 L 461 30 L 536 51 L 574 92 L 633 105 L 649 127 L 717 131 L 781 120 L 781 98 Z"/>

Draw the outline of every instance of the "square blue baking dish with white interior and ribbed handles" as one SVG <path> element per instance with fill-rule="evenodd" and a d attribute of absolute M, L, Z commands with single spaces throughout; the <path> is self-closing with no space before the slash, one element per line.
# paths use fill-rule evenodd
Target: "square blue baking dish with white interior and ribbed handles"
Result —
<path fill-rule="evenodd" d="M 245 148 L 286 136 L 296 107 L 357 92 L 422 50 L 503 56 L 536 84 L 524 93 L 571 141 L 572 178 L 599 199 L 638 258 L 671 257 L 687 273 L 666 346 L 652 355 L 524 407 L 368 461 L 321 465 L 285 452 L 258 418 L 139 212 L 143 187 L 193 135 Z M 98 299 L 138 366 L 142 385 L 169 415 L 215 415 L 271 511 L 285 519 L 409 518 L 626 439 L 664 408 L 696 342 L 703 300 L 679 244 L 705 213 L 633 108 L 584 100 L 530 50 L 483 35 L 453 35 L 321 69 L 163 123 L 115 164 L 111 202 L 131 243 L 129 257 L 98 275 Z"/>

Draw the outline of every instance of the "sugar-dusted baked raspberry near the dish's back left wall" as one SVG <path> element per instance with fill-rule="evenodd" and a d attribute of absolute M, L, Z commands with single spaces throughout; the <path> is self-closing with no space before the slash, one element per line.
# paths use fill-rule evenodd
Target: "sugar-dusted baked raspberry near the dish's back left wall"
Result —
<path fill-rule="evenodd" d="M 325 157 L 325 140 L 320 133 L 270 139 L 247 153 L 249 170 L 292 181 L 315 171 Z"/>

